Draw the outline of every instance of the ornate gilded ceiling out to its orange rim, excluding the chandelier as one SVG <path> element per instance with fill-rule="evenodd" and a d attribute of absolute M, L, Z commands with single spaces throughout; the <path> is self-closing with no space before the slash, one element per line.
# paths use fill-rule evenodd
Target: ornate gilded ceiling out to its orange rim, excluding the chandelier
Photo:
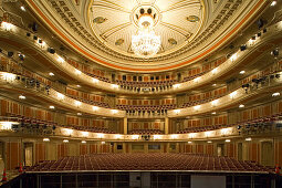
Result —
<path fill-rule="evenodd" d="M 224 44 L 264 0 L 25 0 L 74 50 L 98 64 L 129 72 L 175 70 Z M 130 48 L 140 9 L 149 8 L 161 35 L 159 52 L 136 56 Z M 53 25 L 53 27 L 52 27 Z"/>

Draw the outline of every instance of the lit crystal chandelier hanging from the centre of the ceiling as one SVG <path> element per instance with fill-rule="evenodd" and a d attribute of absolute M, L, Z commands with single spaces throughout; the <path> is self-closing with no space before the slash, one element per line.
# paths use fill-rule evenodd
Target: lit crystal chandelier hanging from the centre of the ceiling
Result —
<path fill-rule="evenodd" d="M 150 14 L 143 14 L 138 19 L 138 27 L 137 35 L 132 36 L 132 49 L 138 56 L 150 58 L 160 46 L 160 36 L 154 31 L 154 18 Z"/>

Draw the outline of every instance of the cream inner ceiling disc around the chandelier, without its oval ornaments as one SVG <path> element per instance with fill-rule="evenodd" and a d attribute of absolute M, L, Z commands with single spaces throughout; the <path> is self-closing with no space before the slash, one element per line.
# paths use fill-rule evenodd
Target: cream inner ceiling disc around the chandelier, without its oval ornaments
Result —
<path fill-rule="evenodd" d="M 130 51 L 132 35 L 137 33 L 133 23 L 133 12 L 142 4 L 152 4 L 159 11 L 159 21 L 155 32 L 161 36 L 163 53 L 178 50 L 191 40 L 199 31 L 203 19 L 203 8 L 200 0 L 94 0 L 91 12 L 93 32 L 108 48 L 134 55 Z M 190 22 L 187 17 L 196 15 L 200 20 Z M 93 19 L 102 17 L 103 23 L 93 23 Z M 116 45 L 116 40 L 123 39 L 124 43 Z M 170 44 L 168 39 L 174 39 L 177 44 Z"/>

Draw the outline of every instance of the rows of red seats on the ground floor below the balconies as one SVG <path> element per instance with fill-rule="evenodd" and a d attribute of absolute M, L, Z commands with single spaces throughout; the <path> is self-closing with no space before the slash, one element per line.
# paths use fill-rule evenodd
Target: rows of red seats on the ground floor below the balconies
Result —
<path fill-rule="evenodd" d="M 43 160 L 27 171 L 94 171 L 94 170 L 192 170 L 211 173 L 273 173 L 253 161 L 205 154 L 90 154 Z"/>

